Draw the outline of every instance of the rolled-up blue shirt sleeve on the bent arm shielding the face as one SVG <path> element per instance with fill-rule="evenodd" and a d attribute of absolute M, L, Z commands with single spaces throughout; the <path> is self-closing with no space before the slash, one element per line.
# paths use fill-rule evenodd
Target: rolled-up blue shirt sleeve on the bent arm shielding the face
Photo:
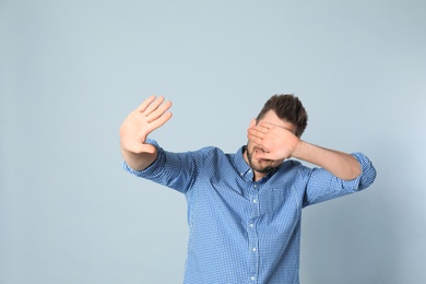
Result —
<path fill-rule="evenodd" d="M 306 173 L 306 192 L 304 206 L 343 197 L 368 188 L 376 179 L 376 168 L 363 153 L 352 154 L 359 163 L 362 173 L 352 180 L 344 180 L 333 176 L 323 168 L 312 168 Z"/>

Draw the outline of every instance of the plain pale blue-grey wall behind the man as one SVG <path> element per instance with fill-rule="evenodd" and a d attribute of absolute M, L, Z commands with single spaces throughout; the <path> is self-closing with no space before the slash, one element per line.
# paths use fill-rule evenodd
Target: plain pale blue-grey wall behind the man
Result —
<path fill-rule="evenodd" d="M 0 1 L 0 283 L 181 283 L 184 196 L 121 169 L 156 94 L 170 151 L 234 152 L 295 93 L 368 190 L 304 211 L 303 283 L 426 283 L 424 1 Z"/>

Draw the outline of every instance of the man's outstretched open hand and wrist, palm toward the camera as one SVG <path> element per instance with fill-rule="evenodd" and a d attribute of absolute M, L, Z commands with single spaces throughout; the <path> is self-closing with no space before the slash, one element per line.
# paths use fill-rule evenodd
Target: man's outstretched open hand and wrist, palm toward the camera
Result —
<path fill-rule="evenodd" d="M 156 149 L 145 140 L 171 118 L 170 107 L 171 102 L 165 102 L 164 97 L 150 96 L 121 123 L 121 153 L 131 168 L 141 170 L 154 162 Z"/>

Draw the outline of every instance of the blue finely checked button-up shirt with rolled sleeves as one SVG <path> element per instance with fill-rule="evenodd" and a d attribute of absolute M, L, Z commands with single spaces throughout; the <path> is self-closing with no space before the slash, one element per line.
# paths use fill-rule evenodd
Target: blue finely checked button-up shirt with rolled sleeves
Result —
<path fill-rule="evenodd" d="M 299 283 L 301 209 L 356 192 L 376 170 L 353 154 L 362 175 L 345 181 L 321 168 L 287 159 L 263 179 L 242 157 L 217 147 L 171 153 L 156 145 L 156 161 L 138 177 L 182 192 L 188 202 L 187 284 Z"/>

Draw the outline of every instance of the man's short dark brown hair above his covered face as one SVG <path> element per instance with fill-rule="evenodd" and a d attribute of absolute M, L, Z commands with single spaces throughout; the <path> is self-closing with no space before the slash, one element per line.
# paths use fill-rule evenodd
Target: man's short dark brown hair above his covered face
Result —
<path fill-rule="evenodd" d="M 308 114 L 297 96 L 292 94 L 273 95 L 263 105 L 256 120 L 262 119 L 269 110 L 273 110 L 282 120 L 295 125 L 297 127 L 296 135 L 301 137 L 308 125 Z"/>

